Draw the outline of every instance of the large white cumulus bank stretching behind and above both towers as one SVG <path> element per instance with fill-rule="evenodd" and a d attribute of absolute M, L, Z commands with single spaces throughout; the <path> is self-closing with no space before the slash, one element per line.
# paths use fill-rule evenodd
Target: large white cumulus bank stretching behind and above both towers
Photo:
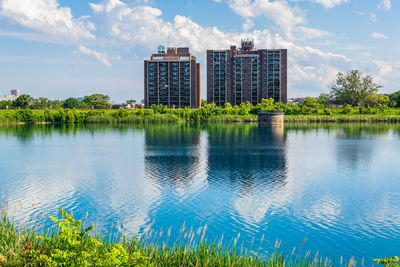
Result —
<path fill-rule="evenodd" d="M 114 3 L 113 8 L 107 9 L 111 2 Z M 236 4 L 240 4 L 239 0 L 236 0 L 236 2 Z M 259 5 L 257 1 L 246 0 L 242 2 Z M 235 3 L 232 1 L 232 4 Z M 280 3 L 278 6 L 280 5 L 286 4 Z M 327 88 L 329 81 L 335 79 L 338 71 L 343 72 L 358 67 L 363 70 L 364 66 L 344 55 L 298 45 L 296 39 L 293 40 L 284 34 L 280 34 L 279 31 L 274 32 L 270 29 L 253 30 L 246 33 L 226 32 L 217 27 L 203 27 L 190 18 L 181 15 L 175 16 L 174 20 L 169 22 L 161 18 L 162 11 L 157 8 L 132 6 L 118 0 L 105 0 L 96 4 L 93 10 L 97 12 L 97 15 L 108 19 L 107 29 L 104 30 L 108 39 L 144 47 L 156 47 L 163 43 L 170 46 L 189 46 L 196 55 L 199 55 L 200 61 L 204 61 L 202 55 L 207 49 L 229 48 L 230 45 L 237 44 L 240 39 L 246 37 L 253 38 L 256 47 L 287 48 L 289 88 L 292 94 L 296 95 L 316 95 L 321 92 L 321 89 Z M 254 7 L 243 12 L 250 19 L 253 16 L 251 14 L 254 14 L 254 16 L 261 14 L 261 11 Z M 283 12 L 281 17 L 284 17 L 287 10 Z M 295 25 L 297 25 L 297 21 L 305 21 L 305 17 L 292 19 Z M 329 35 L 326 31 L 301 25 L 293 27 L 292 33 L 299 39 Z M 204 64 L 204 62 L 201 63 Z M 376 62 L 369 62 L 368 66 L 368 70 L 372 70 L 369 73 L 380 73 L 380 70 L 384 67 Z"/>

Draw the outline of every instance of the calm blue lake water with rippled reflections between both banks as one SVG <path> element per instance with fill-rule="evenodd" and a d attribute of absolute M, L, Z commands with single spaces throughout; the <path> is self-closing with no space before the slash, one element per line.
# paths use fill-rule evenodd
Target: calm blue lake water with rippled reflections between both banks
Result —
<path fill-rule="evenodd" d="M 400 125 L 0 127 L 0 203 L 27 225 L 73 210 L 101 232 L 207 225 L 238 246 L 400 256 Z M 152 224 L 153 222 L 153 224 Z M 252 239 L 254 242 L 252 245 Z M 161 242 L 160 241 L 160 242 Z"/>

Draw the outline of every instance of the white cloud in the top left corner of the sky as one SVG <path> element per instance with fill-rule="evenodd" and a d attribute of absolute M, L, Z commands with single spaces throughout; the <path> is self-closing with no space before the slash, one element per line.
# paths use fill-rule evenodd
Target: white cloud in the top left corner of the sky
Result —
<path fill-rule="evenodd" d="M 95 39 L 96 27 L 89 17 L 74 18 L 71 9 L 61 7 L 57 0 L 0 0 L 0 17 L 47 37 Z"/>

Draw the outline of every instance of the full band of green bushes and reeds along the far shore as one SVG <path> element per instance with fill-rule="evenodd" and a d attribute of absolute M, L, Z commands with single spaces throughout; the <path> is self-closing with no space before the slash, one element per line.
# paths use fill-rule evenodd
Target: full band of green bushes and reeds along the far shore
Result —
<path fill-rule="evenodd" d="M 251 122 L 257 121 L 260 110 L 282 110 L 287 122 L 400 122 L 400 109 L 387 105 L 353 108 L 324 107 L 315 98 L 306 98 L 299 105 L 274 103 L 263 99 L 257 106 L 217 107 L 205 104 L 199 109 L 170 109 L 153 106 L 137 110 L 17 109 L 0 111 L 0 123 L 164 123 L 164 122 Z"/>

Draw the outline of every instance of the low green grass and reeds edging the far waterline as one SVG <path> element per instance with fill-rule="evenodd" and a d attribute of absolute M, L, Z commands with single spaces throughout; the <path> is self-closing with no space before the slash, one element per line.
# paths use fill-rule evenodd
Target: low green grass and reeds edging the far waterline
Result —
<path fill-rule="evenodd" d="M 222 109 L 204 107 L 188 109 L 148 110 L 9 110 L 0 111 L 0 124 L 16 123 L 176 123 L 176 122 L 256 122 L 258 110 Z M 285 121 L 292 122 L 400 122 L 400 111 L 377 114 L 360 114 L 339 111 L 331 114 L 286 114 Z"/>

